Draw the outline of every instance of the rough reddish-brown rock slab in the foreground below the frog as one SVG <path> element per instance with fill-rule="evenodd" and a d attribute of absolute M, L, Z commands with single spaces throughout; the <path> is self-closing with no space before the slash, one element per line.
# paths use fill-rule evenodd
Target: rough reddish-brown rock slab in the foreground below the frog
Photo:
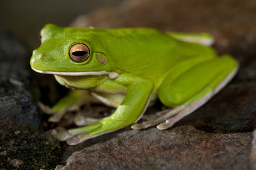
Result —
<path fill-rule="evenodd" d="M 249 169 L 250 133 L 214 134 L 180 125 L 122 130 L 73 153 L 63 169 Z"/>

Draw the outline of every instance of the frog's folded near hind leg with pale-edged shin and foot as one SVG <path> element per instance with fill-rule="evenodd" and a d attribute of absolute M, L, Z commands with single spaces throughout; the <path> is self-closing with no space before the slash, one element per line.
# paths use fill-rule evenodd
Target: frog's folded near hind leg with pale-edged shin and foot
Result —
<path fill-rule="evenodd" d="M 169 107 L 172 107 L 173 105 L 178 106 L 174 107 L 173 109 L 162 111 L 161 116 L 159 116 L 159 118 L 156 120 L 136 123 L 132 125 L 132 128 L 139 130 L 157 125 L 157 128 L 164 130 L 172 127 L 172 125 L 174 125 L 177 121 L 181 120 L 185 116 L 188 116 L 191 112 L 204 105 L 216 93 L 218 93 L 218 91 L 220 91 L 232 79 L 232 77 L 236 75 L 237 68 L 238 64 L 236 60 L 230 58 L 228 55 L 216 58 L 212 61 L 207 61 L 200 65 L 196 65 L 194 68 L 182 73 L 177 79 L 172 81 L 170 83 L 171 86 L 164 86 L 162 89 L 159 89 L 159 98 L 165 105 Z M 198 83 L 188 81 L 188 77 L 193 77 L 193 79 L 198 81 Z M 191 92 L 188 89 L 189 84 L 190 86 L 191 84 L 195 85 L 193 86 L 193 89 L 199 89 L 199 91 L 195 94 L 190 93 L 189 96 L 184 96 L 182 91 L 187 91 L 188 93 L 186 94 Z M 188 97 L 189 99 L 186 100 Z M 185 102 L 183 102 L 184 98 Z"/>

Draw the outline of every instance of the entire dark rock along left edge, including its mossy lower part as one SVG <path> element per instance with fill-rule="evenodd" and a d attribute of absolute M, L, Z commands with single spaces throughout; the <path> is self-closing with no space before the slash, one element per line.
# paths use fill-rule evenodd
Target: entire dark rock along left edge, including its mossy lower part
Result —
<path fill-rule="evenodd" d="M 0 32 L 0 169 L 51 169 L 63 154 L 56 139 L 38 131 L 29 56 L 24 42 Z"/>

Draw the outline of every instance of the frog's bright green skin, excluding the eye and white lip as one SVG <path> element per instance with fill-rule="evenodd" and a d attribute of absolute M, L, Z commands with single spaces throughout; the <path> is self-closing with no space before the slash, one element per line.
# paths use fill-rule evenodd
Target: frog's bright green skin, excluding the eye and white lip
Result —
<path fill-rule="evenodd" d="M 196 43 L 197 40 L 211 40 L 211 36 L 164 33 L 149 28 L 98 29 L 47 24 L 42 44 L 33 51 L 30 63 L 37 72 L 54 74 L 68 88 L 124 95 L 111 116 L 68 131 L 87 132 L 79 138 L 92 137 L 131 125 L 147 109 L 148 101 L 156 98 L 167 107 L 191 104 L 213 91 L 237 69 L 236 59 L 228 55 L 218 57 L 214 49 Z M 89 58 L 82 63 L 69 56 L 70 47 L 76 43 L 84 43 L 90 49 Z M 100 62 L 102 58 L 106 62 Z M 100 73 L 103 70 L 106 73 Z M 89 75 L 70 75 L 70 72 Z M 70 101 L 77 102 L 81 98 L 77 96 L 70 95 L 70 100 L 66 98 L 68 101 L 60 102 L 52 110 L 66 108 Z"/>

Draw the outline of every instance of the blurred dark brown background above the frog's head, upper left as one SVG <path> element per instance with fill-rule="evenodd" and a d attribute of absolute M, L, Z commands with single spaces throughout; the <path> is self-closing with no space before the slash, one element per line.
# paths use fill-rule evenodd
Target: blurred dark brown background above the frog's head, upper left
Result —
<path fill-rule="evenodd" d="M 47 23 L 68 26 L 78 15 L 104 6 L 116 6 L 122 0 L 10 0 L 0 3 L 0 30 L 12 32 L 29 43 L 31 49 L 40 45 L 38 33 Z"/>

